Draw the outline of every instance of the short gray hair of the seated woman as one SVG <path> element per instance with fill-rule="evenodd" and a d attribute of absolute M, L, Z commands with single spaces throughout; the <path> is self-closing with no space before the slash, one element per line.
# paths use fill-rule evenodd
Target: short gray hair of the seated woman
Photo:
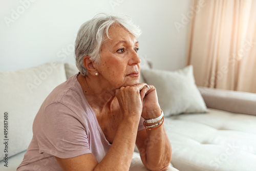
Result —
<path fill-rule="evenodd" d="M 124 27 L 135 37 L 141 34 L 139 27 L 127 16 L 98 14 L 81 25 L 75 41 L 75 56 L 76 67 L 83 76 L 88 75 L 88 70 L 83 65 L 84 56 L 89 56 L 96 63 L 100 62 L 101 45 L 107 37 L 110 38 L 109 28 L 115 24 Z"/>

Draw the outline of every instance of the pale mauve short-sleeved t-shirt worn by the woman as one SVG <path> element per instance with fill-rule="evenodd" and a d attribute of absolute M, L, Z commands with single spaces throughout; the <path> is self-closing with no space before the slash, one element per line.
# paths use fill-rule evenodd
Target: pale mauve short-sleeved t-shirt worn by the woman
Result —
<path fill-rule="evenodd" d="M 111 144 L 83 95 L 77 75 L 57 86 L 42 103 L 18 171 L 62 170 L 54 156 L 71 158 L 92 153 L 100 162 L 108 152 Z M 143 129 L 141 118 L 138 131 Z"/>

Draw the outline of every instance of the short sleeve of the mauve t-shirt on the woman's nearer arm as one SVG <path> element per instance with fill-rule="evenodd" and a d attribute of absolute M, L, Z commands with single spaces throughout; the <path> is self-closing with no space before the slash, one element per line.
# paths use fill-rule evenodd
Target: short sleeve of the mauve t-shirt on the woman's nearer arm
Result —
<path fill-rule="evenodd" d="M 53 103 L 46 107 L 33 130 L 39 153 L 59 158 L 71 158 L 91 153 L 86 128 L 80 118 L 67 106 Z M 37 128 L 37 129 L 34 129 Z"/>

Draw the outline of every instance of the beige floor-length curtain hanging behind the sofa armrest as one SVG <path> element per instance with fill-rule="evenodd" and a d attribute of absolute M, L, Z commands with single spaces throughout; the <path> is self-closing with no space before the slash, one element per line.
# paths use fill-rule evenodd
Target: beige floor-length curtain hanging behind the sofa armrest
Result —
<path fill-rule="evenodd" d="M 187 64 L 197 85 L 256 93 L 256 0 L 193 6 Z"/>

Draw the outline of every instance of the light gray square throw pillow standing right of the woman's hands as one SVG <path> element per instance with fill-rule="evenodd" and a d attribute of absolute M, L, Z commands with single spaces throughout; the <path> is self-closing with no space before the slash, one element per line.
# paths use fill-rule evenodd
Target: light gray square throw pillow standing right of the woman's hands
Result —
<path fill-rule="evenodd" d="M 207 112 L 195 84 L 193 66 L 177 71 L 141 69 L 141 72 L 146 83 L 156 87 L 158 101 L 165 116 Z"/>

